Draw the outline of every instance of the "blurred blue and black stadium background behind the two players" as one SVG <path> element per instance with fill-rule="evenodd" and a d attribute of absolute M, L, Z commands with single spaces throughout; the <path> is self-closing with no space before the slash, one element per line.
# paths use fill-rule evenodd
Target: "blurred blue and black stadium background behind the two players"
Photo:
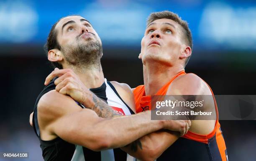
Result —
<path fill-rule="evenodd" d="M 44 43 L 51 26 L 67 15 L 90 20 L 103 43 L 108 80 L 143 84 L 140 42 L 151 12 L 170 10 L 187 20 L 194 50 L 186 72 L 204 79 L 215 95 L 254 95 L 255 0 L 1 0 L 0 152 L 28 152 L 43 161 L 29 114 L 52 71 Z M 255 110 L 255 109 L 254 109 Z M 220 120 L 229 161 L 255 161 L 256 122 Z"/>

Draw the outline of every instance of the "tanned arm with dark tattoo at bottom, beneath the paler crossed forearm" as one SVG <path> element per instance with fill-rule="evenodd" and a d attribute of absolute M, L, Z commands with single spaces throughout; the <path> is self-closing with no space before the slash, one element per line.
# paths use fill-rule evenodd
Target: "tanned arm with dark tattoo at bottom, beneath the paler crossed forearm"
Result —
<path fill-rule="evenodd" d="M 154 161 L 179 138 L 179 133 L 159 130 L 139 138 L 121 149 L 141 161 Z"/>

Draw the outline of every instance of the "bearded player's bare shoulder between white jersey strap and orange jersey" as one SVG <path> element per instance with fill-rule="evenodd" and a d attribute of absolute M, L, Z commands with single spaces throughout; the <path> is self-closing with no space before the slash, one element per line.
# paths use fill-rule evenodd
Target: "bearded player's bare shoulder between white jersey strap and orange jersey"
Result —
<path fill-rule="evenodd" d="M 131 87 L 128 84 L 119 83 L 116 81 L 111 81 L 111 84 L 113 84 L 113 86 L 115 87 L 120 97 L 129 107 L 131 107 L 131 109 L 134 112 L 135 103 L 134 103 L 134 97 L 133 97 L 133 90 L 131 89 Z"/>

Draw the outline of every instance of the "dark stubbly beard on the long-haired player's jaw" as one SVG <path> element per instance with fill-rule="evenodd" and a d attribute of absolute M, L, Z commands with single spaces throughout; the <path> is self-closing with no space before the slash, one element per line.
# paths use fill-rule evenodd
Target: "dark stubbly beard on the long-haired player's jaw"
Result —
<path fill-rule="evenodd" d="M 78 41 L 79 42 L 79 41 Z M 99 40 L 88 39 L 87 43 L 77 43 L 61 47 L 68 64 L 76 68 L 99 67 L 102 57 L 102 44 Z"/>

